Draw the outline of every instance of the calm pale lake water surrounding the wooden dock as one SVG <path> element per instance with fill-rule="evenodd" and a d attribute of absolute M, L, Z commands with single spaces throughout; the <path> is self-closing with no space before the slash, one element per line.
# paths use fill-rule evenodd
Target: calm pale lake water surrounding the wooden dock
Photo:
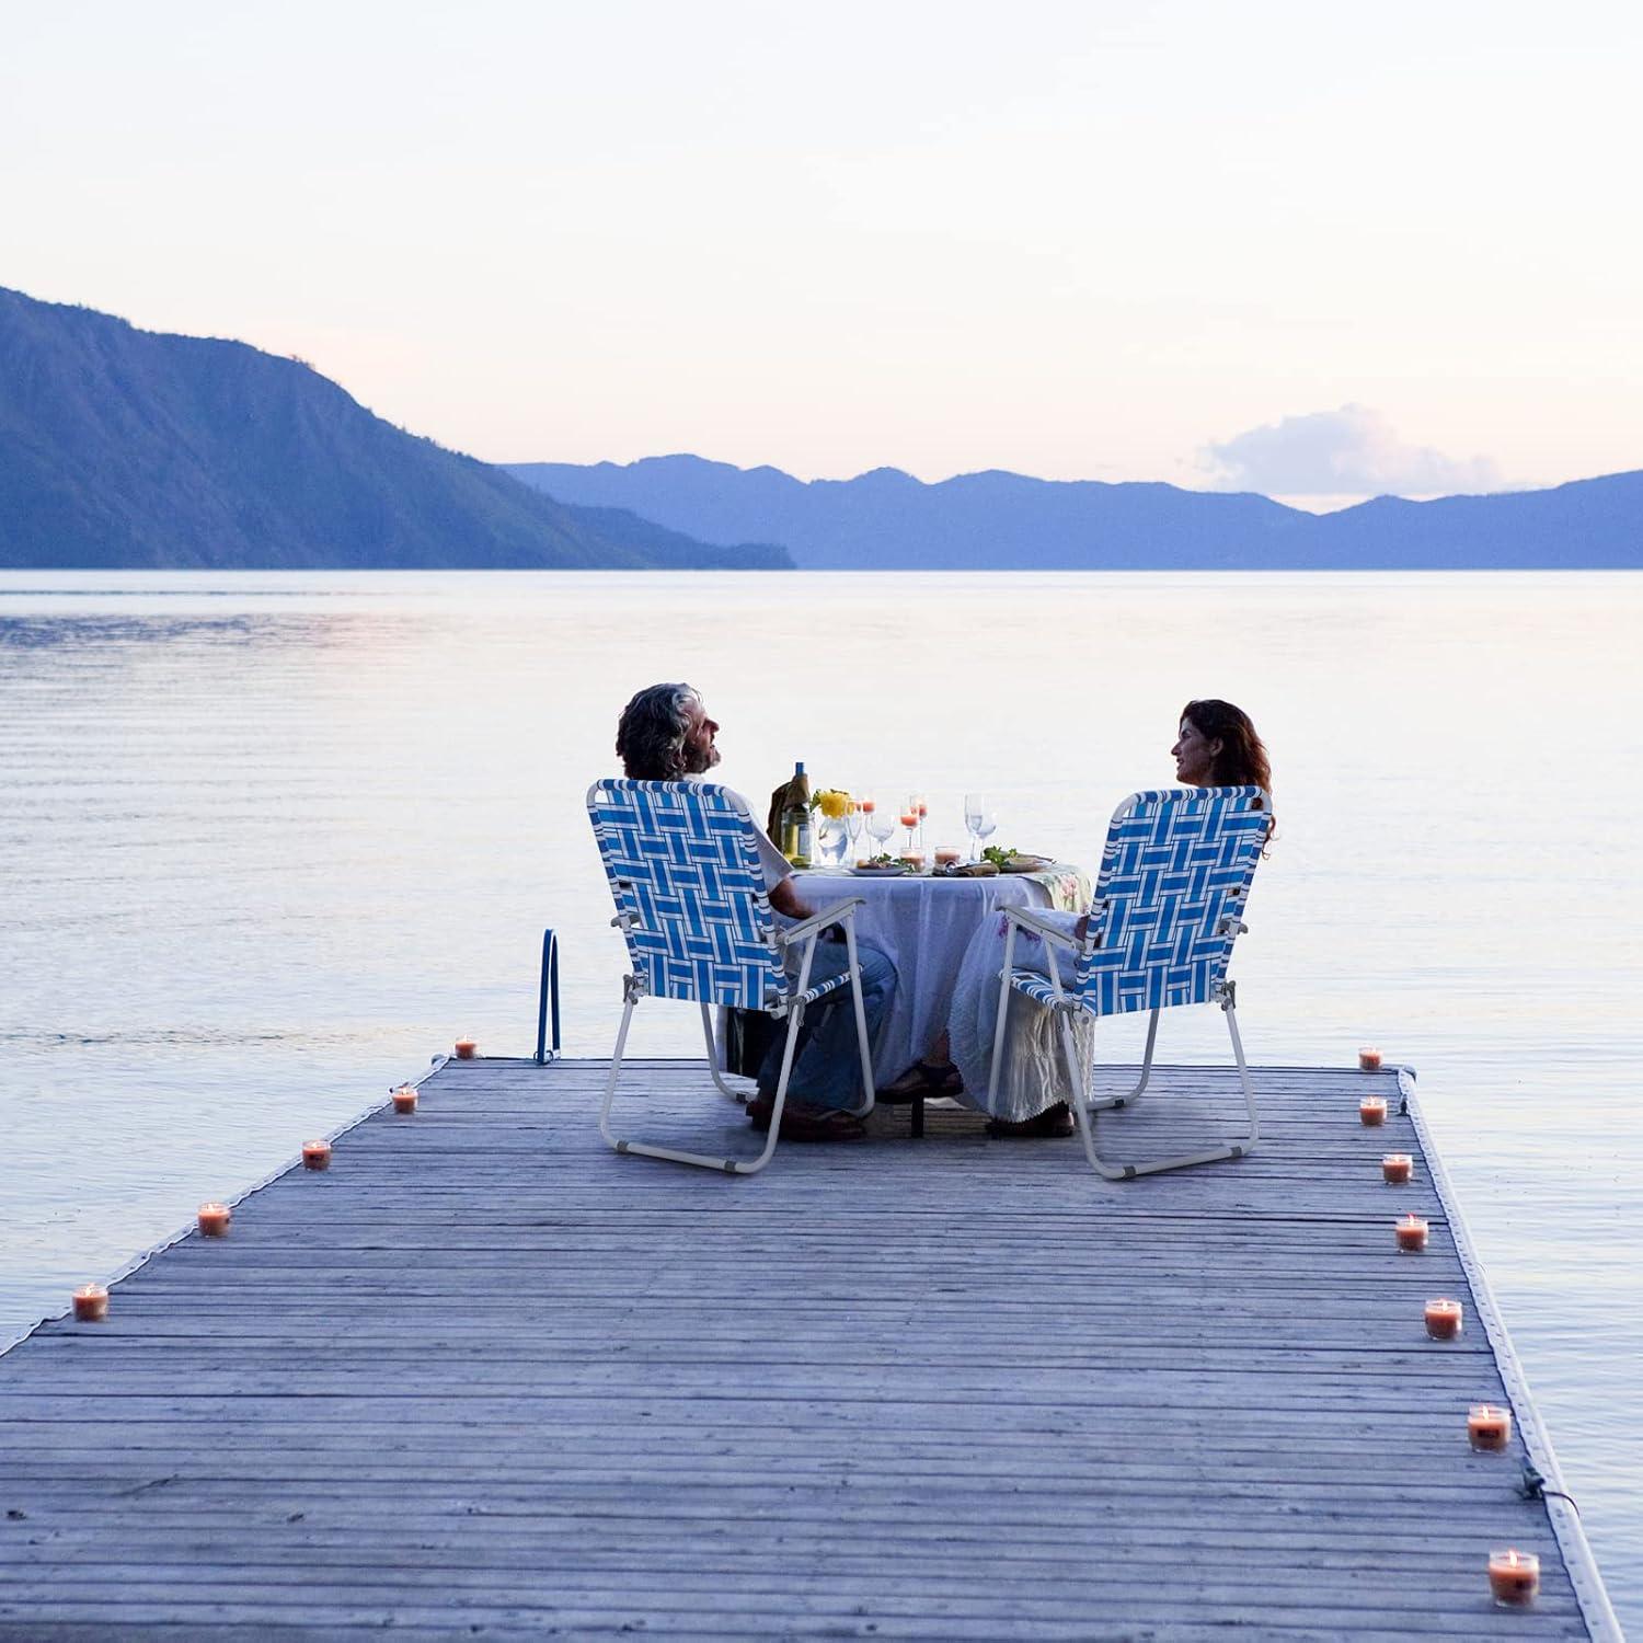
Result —
<path fill-rule="evenodd" d="M 1250 1056 L 1420 1071 L 1643 1622 L 1640 634 L 1625 573 L 0 573 L 0 1344 L 458 1032 L 529 1053 L 544 925 L 567 1048 L 608 1053 L 582 797 L 637 685 L 698 685 L 754 798 L 802 757 L 961 840 L 981 787 L 994 843 L 1089 866 L 1221 695 L 1280 818 Z M 695 1032 L 659 1010 L 636 1048 Z M 1183 1012 L 1163 1055 L 1217 1032 Z"/>

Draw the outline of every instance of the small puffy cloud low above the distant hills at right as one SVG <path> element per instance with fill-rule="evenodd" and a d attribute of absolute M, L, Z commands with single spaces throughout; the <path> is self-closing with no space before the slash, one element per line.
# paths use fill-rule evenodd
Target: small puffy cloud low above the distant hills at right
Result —
<path fill-rule="evenodd" d="M 1446 496 L 1505 488 L 1489 457 L 1405 445 L 1367 406 L 1309 411 L 1252 427 L 1199 455 L 1221 490 L 1267 496 Z"/>

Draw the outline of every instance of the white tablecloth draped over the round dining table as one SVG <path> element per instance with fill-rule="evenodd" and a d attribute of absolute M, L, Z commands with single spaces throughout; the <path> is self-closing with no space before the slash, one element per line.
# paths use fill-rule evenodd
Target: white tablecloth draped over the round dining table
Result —
<path fill-rule="evenodd" d="M 895 997 L 872 1045 L 872 1076 L 889 1083 L 918 1060 L 946 1027 L 953 987 L 971 938 L 999 907 L 1050 907 L 1073 894 L 1068 876 L 1001 872 L 992 879 L 858 879 L 848 871 L 795 872 L 798 894 L 818 912 L 859 895 L 856 937 L 895 966 Z M 1084 895 L 1089 894 L 1083 881 Z"/>

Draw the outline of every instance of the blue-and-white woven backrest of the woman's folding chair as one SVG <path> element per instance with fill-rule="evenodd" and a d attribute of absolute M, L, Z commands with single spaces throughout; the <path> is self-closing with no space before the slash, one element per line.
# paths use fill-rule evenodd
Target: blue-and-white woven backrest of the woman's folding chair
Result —
<path fill-rule="evenodd" d="M 1096 1015 L 1203 1004 L 1272 826 L 1259 787 L 1167 787 L 1112 813 L 1075 987 Z"/>

